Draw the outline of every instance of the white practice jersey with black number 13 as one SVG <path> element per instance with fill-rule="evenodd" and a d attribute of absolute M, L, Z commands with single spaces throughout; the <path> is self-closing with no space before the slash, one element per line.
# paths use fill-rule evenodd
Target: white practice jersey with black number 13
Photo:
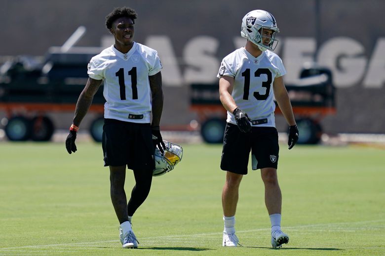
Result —
<path fill-rule="evenodd" d="M 267 50 L 255 58 L 242 47 L 223 59 L 217 77 L 234 78 L 231 96 L 236 105 L 245 111 L 251 120 L 265 121 L 253 126 L 275 127 L 272 87 L 274 79 L 284 74 L 285 67 L 275 53 Z M 233 114 L 229 111 L 227 122 L 236 124 Z"/>

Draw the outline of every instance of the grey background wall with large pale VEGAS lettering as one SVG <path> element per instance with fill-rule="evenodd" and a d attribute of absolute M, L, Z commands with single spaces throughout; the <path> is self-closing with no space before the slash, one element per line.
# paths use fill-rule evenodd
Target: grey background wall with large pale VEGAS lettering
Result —
<path fill-rule="evenodd" d="M 135 41 L 158 50 L 164 65 L 162 125 L 196 118 L 188 85 L 217 82 L 222 58 L 245 43 L 242 17 L 266 9 L 281 31 L 275 52 L 287 68 L 286 83 L 306 62 L 333 71 L 337 114 L 321 121 L 324 130 L 385 132 L 383 0 L 0 0 L 0 56 L 44 55 L 80 25 L 87 32 L 77 46 L 106 46 L 112 38 L 105 16 L 124 5 L 138 12 Z"/>

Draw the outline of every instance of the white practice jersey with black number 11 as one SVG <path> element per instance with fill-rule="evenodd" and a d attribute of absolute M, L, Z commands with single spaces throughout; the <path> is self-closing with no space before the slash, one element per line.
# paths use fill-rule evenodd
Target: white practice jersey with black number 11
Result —
<path fill-rule="evenodd" d="M 123 54 L 114 45 L 94 56 L 88 75 L 104 82 L 104 117 L 133 123 L 150 123 L 151 89 L 149 76 L 162 68 L 157 52 L 134 42 Z M 142 119 L 129 118 L 143 115 Z"/>

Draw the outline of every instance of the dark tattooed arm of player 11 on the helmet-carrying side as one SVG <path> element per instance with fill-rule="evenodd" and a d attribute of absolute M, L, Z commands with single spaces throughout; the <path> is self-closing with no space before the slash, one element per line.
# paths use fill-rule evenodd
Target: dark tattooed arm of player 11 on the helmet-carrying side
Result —
<path fill-rule="evenodd" d="M 162 74 L 160 71 L 152 76 L 149 76 L 150 88 L 152 94 L 152 113 L 153 122 L 152 127 L 157 127 L 160 124 L 160 117 L 162 116 L 163 110 L 163 90 L 162 90 Z"/>

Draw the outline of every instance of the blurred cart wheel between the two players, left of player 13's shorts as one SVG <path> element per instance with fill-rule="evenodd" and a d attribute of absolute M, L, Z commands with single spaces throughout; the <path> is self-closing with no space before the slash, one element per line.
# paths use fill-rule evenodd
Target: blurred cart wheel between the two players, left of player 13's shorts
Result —
<path fill-rule="evenodd" d="M 203 123 L 200 134 L 207 143 L 222 143 L 225 127 L 225 120 L 212 118 Z"/>

